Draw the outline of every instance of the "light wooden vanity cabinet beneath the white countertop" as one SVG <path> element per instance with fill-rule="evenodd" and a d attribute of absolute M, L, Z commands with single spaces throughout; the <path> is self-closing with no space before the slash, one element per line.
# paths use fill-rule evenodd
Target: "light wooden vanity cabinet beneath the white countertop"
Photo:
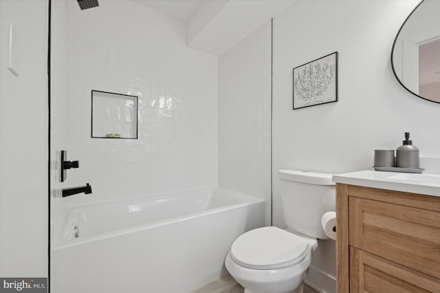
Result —
<path fill-rule="evenodd" d="M 338 293 L 440 293 L 440 197 L 336 184 Z"/>

